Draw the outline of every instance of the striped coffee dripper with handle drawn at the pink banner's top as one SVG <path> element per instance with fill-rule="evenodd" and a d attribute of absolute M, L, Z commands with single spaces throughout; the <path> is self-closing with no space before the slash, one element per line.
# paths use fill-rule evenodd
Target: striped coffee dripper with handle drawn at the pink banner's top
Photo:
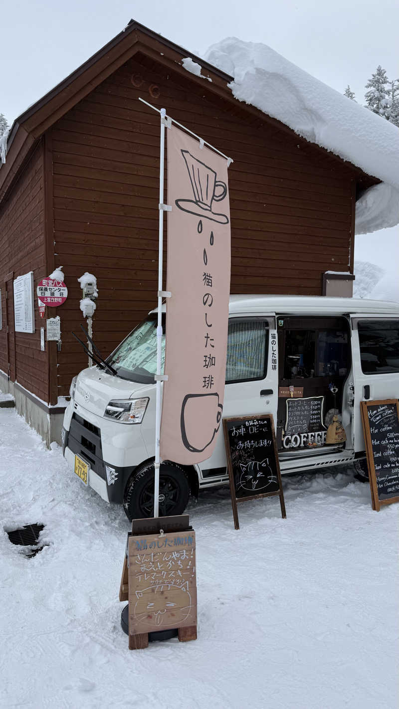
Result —
<path fill-rule="evenodd" d="M 216 172 L 204 162 L 191 155 L 189 150 L 181 150 L 186 167 L 189 172 L 194 199 L 176 199 L 176 206 L 184 212 L 205 217 L 220 224 L 227 224 L 225 214 L 216 213 L 213 202 L 225 199 L 227 185 L 222 180 L 216 179 Z M 218 190 L 218 194 L 216 191 Z"/>

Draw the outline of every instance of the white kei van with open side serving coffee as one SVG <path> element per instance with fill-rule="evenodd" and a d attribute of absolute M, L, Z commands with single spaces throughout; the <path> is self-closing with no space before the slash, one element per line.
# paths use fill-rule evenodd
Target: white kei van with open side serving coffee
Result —
<path fill-rule="evenodd" d="M 74 377 L 62 430 L 72 471 L 104 500 L 123 503 L 130 519 L 154 509 L 156 316 L 152 311 L 110 354 L 111 369 L 90 367 Z M 291 395 L 322 402 L 320 431 L 287 426 Z M 398 397 L 399 303 L 230 297 L 223 416 L 272 413 L 282 474 L 361 461 L 359 402 Z M 335 407 L 346 440 L 327 445 Z M 180 514 L 190 494 L 227 483 L 222 428 L 208 460 L 162 463 L 159 515 Z"/>

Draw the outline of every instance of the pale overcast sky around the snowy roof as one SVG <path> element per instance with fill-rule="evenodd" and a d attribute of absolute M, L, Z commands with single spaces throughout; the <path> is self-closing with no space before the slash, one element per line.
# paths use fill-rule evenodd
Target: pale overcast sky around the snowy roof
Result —
<path fill-rule="evenodd" d="M 359 103 L 378 64 L 399 77 L 398 0 L 13 0 L 1 12 L 0 113 L 12 123 L 130 18 L 188 55 L 228 36 L 263 42 L 337 91 L 350 84 Z M 373 238 L 357 238 L 356 257 L 392 263 L 398 235 L 384 230 L 377 256 Z"/>

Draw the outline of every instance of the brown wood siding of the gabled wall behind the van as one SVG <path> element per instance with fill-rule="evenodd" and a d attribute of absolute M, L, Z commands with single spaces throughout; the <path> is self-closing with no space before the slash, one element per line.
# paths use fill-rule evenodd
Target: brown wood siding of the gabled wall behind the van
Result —
<path fill-rule="evenodd" d="M 135 88 L 135 82 L 142 82 Z M 347 271 L 354 170 L 310 143 L 233 109 L 144 57 L 135 57 L 51 130 L 55 261 L 62 308 L 58 393 L 87 359 L 74 342 L 81 291 L 96 275 L 94 339 L 103 355 L 156 305 L 159 116 L 142 96 L 216 145 L 229 168 L 232 293 L 321 295 L 322 273 Z M 160 95 L 154 99 L 154 86 Z M 155 89 L 156 91 L 156 89 Z M 166 199 L 166 197 L 165 197 Z"/>

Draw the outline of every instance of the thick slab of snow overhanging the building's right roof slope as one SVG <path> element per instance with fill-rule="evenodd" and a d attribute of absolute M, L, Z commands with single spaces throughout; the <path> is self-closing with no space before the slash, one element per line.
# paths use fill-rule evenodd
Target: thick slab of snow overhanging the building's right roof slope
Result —
<path fill-rule="evenodd" d="M 256 106 L 311 143 L 384 183 L 356 203 L 356 233 L 399 222 L 399 130 L 261 43 L 226 38 L 205 59 L 234 80 L 239 101 Z"/>

